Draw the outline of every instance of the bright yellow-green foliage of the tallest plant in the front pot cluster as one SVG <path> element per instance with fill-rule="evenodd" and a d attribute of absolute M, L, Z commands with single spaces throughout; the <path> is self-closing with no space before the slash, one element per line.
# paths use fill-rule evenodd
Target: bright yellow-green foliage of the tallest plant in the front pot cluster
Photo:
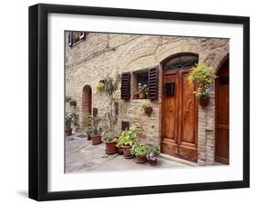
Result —
<path fill-rule="evenodd" d="M 135 142 L 138 141 L 137 136 L 137 128 L 135 125 L 130 126 L 128 131 L 121 132 L 121 136 L 118 138 L 118 146 L 125 145 L 125 146 L 132 146 Z"/>

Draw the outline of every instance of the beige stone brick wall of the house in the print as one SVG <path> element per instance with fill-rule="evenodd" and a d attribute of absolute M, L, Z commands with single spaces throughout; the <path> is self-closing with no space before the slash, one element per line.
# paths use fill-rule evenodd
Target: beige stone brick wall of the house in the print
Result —
<path fill-rule="evenodd" d="M 67 34 L 66 34 L 67 38 Z M 173 54 L 199 54 L 199 60 L 215 67 L 229 53 L 228 39 L 153 36 L 136 34 L 99 34 L 88 33 L 85 41 L 72 47 L 66 46 L 66 95 L 77 101 L 77 108 L 69 108 L 67 112 L 77 112 L 82 116 L 82 91 L 85 85 L 92 88 L 92 107 L 97 107 L 99 114 L 106 112 L 108 103 L 106 96 L 99 92 L 96 83 L 106 73 L 115 76 L 116 73 L 131 72 L 148 69 L 159 65 L 161 76 L 161 62 Z M 131 87 L 135 81 L 132 78 Z M 145 100 L 128 102 L 120 99 L 120 83 L 116 97 L 119 103 L 118 132 L 121 121 L 133 122 L 138 126 L 141 138 L 147 142 L 160 144 L 161 132 L 161 77 L 159 77 L 159 101 L 151 102 L 153 113 L 148 117 L 140 108 Z M 211 87 L 211 101 L 207 109 L 199 108 L 198 150 L 199 164 L 214 162 L 215 139 L 215 93 Z M 104 127 L 104 125 L 102 124 Z"/>

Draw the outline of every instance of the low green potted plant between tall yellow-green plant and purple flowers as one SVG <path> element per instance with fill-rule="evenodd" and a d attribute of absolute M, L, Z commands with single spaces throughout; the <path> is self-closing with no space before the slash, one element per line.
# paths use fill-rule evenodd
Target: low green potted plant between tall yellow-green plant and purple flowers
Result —
<path fill-rule="evenodd" d="M 131 154 L 135 155 L 137 163 L 144 163 L 147 161 L 148 145 L 143 143 L 136 143 L 132 146 Z"/>

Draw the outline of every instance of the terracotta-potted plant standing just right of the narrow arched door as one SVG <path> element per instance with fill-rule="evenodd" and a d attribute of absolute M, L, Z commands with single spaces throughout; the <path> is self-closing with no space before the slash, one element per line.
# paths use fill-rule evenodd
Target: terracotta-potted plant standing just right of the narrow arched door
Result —
<path fill-rule="evenodd" d="M 88 124 L 91 127 L 91 140 L 92 145 L 97 145 L 101 143 L 101 134 L 99 132 L 98 124 L 101 121 L 101 117 L 96 115 L 87 115 Z"/>

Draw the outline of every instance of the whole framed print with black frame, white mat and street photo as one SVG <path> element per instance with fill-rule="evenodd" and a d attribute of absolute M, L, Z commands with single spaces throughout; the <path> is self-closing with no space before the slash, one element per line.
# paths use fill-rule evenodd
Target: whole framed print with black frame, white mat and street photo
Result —
<path fill-rule="evenodd" d="M 250 186 L 250 19 L 29 7 L 29 197 Z"/>

